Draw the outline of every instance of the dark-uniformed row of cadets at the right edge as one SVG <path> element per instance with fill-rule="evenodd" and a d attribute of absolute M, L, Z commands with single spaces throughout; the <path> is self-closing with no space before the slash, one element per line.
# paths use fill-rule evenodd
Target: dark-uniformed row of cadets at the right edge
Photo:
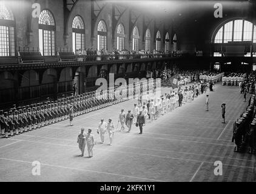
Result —
<path fill-rule="evenodd" d="M 234 152 L 244 152 L 249 145 L 248 153 L 256 151 L 256 116 L 255 95 L 249 99 L 249 105 L 240 118 L 234 122 L 232 142 L 235 141 Z"/>

